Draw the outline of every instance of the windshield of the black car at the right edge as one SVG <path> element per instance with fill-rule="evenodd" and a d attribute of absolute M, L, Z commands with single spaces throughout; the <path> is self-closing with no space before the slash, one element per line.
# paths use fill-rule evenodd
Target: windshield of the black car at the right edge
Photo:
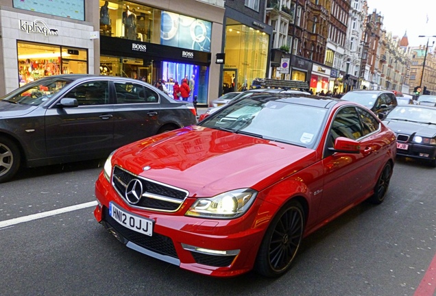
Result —
<path fill-rule="evenodd" d="M 419 106 L 397 106 L 387 115 L 385 120 L 436 124 L 436 109 L 421 108 Z"/>

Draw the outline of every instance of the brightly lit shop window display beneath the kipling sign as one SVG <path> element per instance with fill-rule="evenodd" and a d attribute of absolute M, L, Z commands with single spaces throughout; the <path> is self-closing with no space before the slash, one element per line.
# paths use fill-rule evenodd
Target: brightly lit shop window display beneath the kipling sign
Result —
<path fill-rule="evenodd" d="M 17 42 L 17 49 L 20 86 L 45 76 L 88 73 L 85 49 L 33 42 Z"/>

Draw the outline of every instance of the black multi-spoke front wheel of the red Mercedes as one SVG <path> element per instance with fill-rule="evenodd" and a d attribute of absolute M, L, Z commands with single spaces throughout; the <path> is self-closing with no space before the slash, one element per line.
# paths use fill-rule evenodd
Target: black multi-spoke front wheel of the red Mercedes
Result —
<path fill-rule="evenodd" d="M 271 221 L 258 251 L 256 271 L 267 277 L 285 273 L 297 254 L 303 232 L 303 208 L 297 201 L 291 201 Z"/>

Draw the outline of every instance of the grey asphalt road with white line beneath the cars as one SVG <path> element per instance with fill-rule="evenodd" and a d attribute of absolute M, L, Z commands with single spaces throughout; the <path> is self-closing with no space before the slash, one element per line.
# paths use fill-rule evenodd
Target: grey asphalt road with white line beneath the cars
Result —
<path fill-rule="evenodd" d="M 308 236 L 293 268 L 278 279 L 254 272 L 206 277 L 124 247 L 95 221 L 90 207 L 103 163 L 27 169 L 0 184 L 0 295 L 431 296 L 435 291 L 436 169 L 420 162 L 398 160 L 382 205 L 363 203 Z M 40 217 L 53 210 L 58 212 Z"/>

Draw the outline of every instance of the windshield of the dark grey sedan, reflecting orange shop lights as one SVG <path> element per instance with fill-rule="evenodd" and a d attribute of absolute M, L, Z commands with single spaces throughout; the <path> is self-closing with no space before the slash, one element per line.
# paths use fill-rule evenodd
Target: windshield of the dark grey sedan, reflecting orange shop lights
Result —
<path fill-rule="evenodd" d="M 39 106 L 72 81 L 73 79 L 59 77 L 38 79 L 17 88 L 12 93 L 5 95 L 1 100 L 19 105 Z"/>

